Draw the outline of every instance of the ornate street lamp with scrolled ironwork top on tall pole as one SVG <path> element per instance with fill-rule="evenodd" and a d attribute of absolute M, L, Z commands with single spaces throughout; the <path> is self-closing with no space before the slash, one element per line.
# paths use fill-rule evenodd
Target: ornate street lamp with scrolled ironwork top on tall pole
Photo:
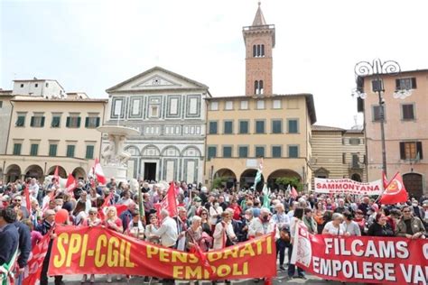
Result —
<path fill-rule="evenodd" d="M 382 141 L 382 170 L 386 175 L 386 145 L 385 145 L 385 113 L 384 106 L 385 101 L 383 94 L 385 93 L 383 76 L 394 76 L 400 73 L 400 65 L 394 60 L 381 61 L 379 59 L 373 60 L 371 63 L 368 61 L 360 61 L 355 65 L 355 75 L 357 78 L 357 88 L 352 91 L 352 97 L 359 97 L 366 99 L 367 94 L 363 92 L 362 78 L 373 77 L 372 90 L 377 93 L 379 103 L 379 119 L 380 119 L 380 136 Z M 405 99 L 412 95 L 412 91 L 399 88 L 396 89 L 393 97 Z"/>

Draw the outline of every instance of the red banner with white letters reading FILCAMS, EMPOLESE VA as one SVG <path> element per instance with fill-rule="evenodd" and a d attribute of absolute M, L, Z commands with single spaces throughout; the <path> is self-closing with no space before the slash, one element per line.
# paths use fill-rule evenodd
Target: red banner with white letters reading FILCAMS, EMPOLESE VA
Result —
<path fill-rule="evenodd" d="M 322 279 L 383 284 L 428 280 L 425 239 L 313 235 L 304 227 L 297 235 L 296 264 Z"/>

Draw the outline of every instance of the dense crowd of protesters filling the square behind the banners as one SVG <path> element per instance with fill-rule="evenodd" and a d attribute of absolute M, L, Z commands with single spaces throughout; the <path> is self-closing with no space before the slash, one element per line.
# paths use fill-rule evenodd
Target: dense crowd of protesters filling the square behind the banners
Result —
<path fill-rule="evenodd" d="M 25 190 L 31 207 L 25 205 Z M 209 189 L 182 181 L 175 182 L 178 214 L 171 217 L 167 209 L 157 212 L 155 207 L 167 190 L 164 183 L 143 180 L 137 188 L 126 182 L 117 183 L 115 179 L 106 185 L 97 185 L 92 179 L 80 180 L 70 192 L 60 188 L 56 179 L 45 185 L 37 179 L 17 180 L 7 185 L 0 180 L 0 268 L 8 269 L 16 259 L 16 283 L 21 284 L 33 246 L 45 234 L 51 234 L 51 239 L 56 237 L 51 228 L 60 209 L 69 212 L 70 225 L 103 226 L 181 251 L 198 246 L 208 252 L 274 232 L 278 271 L 286 271 L 288 278 L 302 279 L 305 273 L 301 268 L 285 264 L 285 252 L 288 261 L 293 253 L 293 234 L 298 224 L 305 225 L 312 234 L 410 239 L 425 238 L 428 225 L 428 198 L 424 197 L 410 198 L 402 205 L 382 206 L 369 197 L 316 194 L 293 197 L 282 189 L 265 195 L 249 189 Z M 117 205 L 126 209 L 118 214 Z M 42 266 L 42 285 L 48 284 L 49 254 Z M 122 278 L 130 277 L 116 276 L 117 280 Z M 84 275 L 81 280 L 95 281 L 94 275 Z M 107 282 L 111 281 L 112 276 L 107 275 Z M 63 284 L 61 276 L 55 276 L 55 284 Z"/>

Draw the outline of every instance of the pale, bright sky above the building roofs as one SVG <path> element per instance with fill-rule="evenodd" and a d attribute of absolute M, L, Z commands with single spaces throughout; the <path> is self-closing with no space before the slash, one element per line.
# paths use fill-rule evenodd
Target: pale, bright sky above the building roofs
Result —
<path fill-rule="evenodd" d="M 317 124 L 355 124 L 358 61 L 428 69 L 428 1 L 262 0 L 261 7 L 276 31 L 274 93 L 311 93 Z M 256 9 L 257 0 L 0 0 L 0 87 L 51 78 L 67 92 L 106 98 L 108 87 L 161 66 L 207 85 L 213 97 L 241 96 L 242 27 Z"/>

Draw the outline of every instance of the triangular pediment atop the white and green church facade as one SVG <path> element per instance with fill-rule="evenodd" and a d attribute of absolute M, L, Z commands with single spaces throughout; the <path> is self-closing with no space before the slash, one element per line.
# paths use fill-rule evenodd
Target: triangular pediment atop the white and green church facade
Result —
<path fill-rule="evenodd" d="M 181 76 L 170 70 L 154 67 L 143 73 L 136 75 L 133 78 L 117 84 L 114 87 L 108 88 L 107 93 L 112 92 L 135 92 L 135 91 L 153 91 L 163 89 L 208 89 L 204 84 L 201 84 L 190 78 Z"/>

